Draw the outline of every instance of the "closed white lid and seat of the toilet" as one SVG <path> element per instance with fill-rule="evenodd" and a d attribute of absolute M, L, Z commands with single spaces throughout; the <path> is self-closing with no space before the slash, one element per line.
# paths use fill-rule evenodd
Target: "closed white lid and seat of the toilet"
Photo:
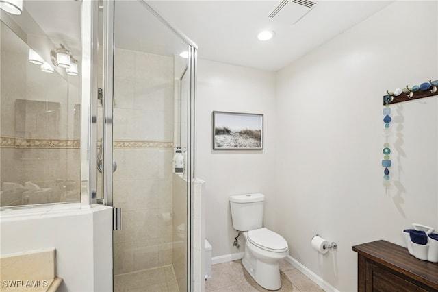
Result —
<path fill-rule="evenodd" d="M 280 234 L 267 228 L 248 231 L 248 241 L 263 250 L 270 252 L 285 252 L 288 250 L 287 242 Z"/>

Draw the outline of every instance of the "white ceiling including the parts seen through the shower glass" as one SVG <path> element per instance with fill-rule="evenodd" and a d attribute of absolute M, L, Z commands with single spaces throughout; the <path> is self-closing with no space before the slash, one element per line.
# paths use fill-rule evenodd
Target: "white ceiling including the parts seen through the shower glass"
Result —
<path fill-rule="evenodd" d="M 146 2 L 198 45 L 199 58 L 277 71 L 393 1 L 316 1 L 294 25 L 268 18 L 280 0 Z M 55 44 L 62 42 L 74 55 L 80 54 L 81 1 L 25 0 L 23 5 Z M 276 35 L 261 42 L 261 29 Z M 170 35 L 137 0 L 116 1 L 116 47 L 177 53 L 181 40 Z"/>

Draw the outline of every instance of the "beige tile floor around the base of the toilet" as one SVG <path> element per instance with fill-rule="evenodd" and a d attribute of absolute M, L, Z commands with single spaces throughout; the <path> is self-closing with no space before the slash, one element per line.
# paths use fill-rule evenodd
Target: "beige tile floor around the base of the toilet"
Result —
<path fill-rule="evenodd" d="M 205 291 L 214 292 L 250 292 L 269 291 L 263 289 L 251 278 L 241 260 L 211 266 L 211 278 L 205 281 Z M 280 263 L 281 289 L 277 291 L 321 292 L 312 280 L 295 269 L 286 260 Z"/>

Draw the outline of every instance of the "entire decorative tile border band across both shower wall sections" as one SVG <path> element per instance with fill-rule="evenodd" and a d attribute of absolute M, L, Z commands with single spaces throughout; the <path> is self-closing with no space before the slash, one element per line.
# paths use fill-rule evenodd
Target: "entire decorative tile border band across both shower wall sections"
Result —
<path fill-rule="evenodd" d="M 98 147 L 100 141 L 98 143 Z M 1 148 L 79 149 L 79 139 L 14 138 L 0 136 Z M 123 141 L 115 140 L 114 149 L 173 149 L 169 141 Z"/>

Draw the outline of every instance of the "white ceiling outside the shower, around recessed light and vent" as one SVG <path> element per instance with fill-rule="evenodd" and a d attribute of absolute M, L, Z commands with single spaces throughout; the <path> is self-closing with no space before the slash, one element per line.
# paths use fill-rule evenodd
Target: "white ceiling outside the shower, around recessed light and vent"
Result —
<path fill-rule="evenodd" d="M 295 25 L 268 15 L 276 1 L 147 1 L 199 47 L 198 57 L 277 71 L 393 1 L 315 1 Z M 261 29 L 275 37 L 257 40 Z"/>

